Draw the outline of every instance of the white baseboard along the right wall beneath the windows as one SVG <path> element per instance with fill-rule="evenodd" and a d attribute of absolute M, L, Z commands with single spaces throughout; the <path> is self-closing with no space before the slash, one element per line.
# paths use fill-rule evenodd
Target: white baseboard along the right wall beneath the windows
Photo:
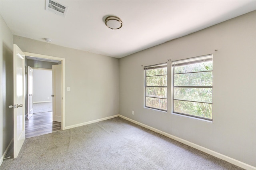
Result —
<path fill-rule="evenodd" d="M 177 140 L 178 142 L 181 142 L 181 143 L 183 143 L 183 144 L 186 144 L 186 145 L 188 145 L 188 146 L 191 146 L 192 148 L 196 148 L 196 149 L 198 149 L 198 150 L 201 150 L 202 152 L 205 152 L 205 153 L 207 153 L 207 154 L 210 154 L 210 155 L 212 155 L 212 156 L 215 156 L 215 157 L 217 157 L 217 158 L 220 158 L 220 159 L 222 159 L 222 160 L 225 160 L 225 161 L 227 161 L 227 162 L 230 162 L 231 164 L 234 164 L 234 165 L 239 166 L 239 167 L 241 167 L 241 168 L 244 168 L 244 169 L 246 169 L 246 170 L 256 170 L 256 167 L 254 167 L 254 166 L 251 166 L 251 165 L 246 164 L 246 163 L 244 163 L 244 162 L 241 162 L 241 161 L 239 161 L 239 160 L 230 158 L 230 157 L 228 157 L 228 156 L 226 156 L 226 155 L 220 154 L 220 153 L 215 152 L 215 151 L 213 151 L 213 150 L 210 150 L 210 149 L 208 149 L 208 148 L 204 148 L 203 146 L 200 146 L 200 145 L 198 145 L 198 144 L 194 144 L 194 143 L 192 143 L 192 142 L 189 142 L 188 140 L 184 140 L 184 139 L 182 139 L 182 138 L 173 136 L 173 135 L 171 135 L 171 134 L 168 134 L 168 133 L 163 132 L 163 131 L 161 131 L 161 130 L 158 130 L 158 129 L 156 129 L 156 128 L 150 127 L 150 126 L 148 126 L 148 125 L 144 125 L 143 123 L 134 121 L 134 120 L 132 120 L 132 119 L 130 119 L 130 118 L 128 118 L 128 117 L 124 117 L 124 116 L 122 116 L 122 115 L 119 115 L 119 117 L 121 117 L 121 118 L 123 118 L 123 119 L 126 119 L 127 121 L 130 121 L 130 122 L 135 123 L 135 124 L 137 124 L 137 125 L 140 125 L 140 126 L 142 126 L 142 127 L 144 127 L 144 128 L 150 129 L 150 130 L 152 130 L 152 131 L 154 131 L 154 132 L 157 132 L 157 133 L 159 133 L 159 134 L 162 134 L 162 135 L 164 135 L 164 136 L 167 136 L 168 138 Z"/>

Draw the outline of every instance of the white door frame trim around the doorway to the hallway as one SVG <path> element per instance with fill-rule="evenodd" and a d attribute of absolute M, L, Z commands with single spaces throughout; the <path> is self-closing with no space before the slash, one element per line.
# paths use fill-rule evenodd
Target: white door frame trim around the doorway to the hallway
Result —
<path fill-rule="evenodd" d="M 62 71 L 62 105 L 61 105 L 61 129 L 65 130 L 65 58 L 61 57 L 53 57 L 50 55 L 42 55 L 42 54 L 36 54 L 36 53 L 29 53 L 29 52 L 24 52 L 25 56 L 29 57 L 37 57 L 37 58 L 44 58 L 44 59 L 53 59 L 53 60 L 58 60 L 61 61 L 61 71 Z"/>

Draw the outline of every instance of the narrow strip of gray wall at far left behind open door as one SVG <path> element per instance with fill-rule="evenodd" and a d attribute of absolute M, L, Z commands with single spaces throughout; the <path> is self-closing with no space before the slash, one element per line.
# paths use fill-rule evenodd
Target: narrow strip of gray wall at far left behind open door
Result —
<path fill-rule="evenodd" d="M 13 35 L 0 20 L 0 157 L 13 138 Z M 0 160 L 2 161 L 2 160 Z"/>

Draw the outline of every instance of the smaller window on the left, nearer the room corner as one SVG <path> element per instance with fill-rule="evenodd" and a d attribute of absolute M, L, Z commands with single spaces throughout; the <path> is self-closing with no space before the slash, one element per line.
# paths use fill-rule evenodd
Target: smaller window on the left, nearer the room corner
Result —
<path fill-rule="evenodd" d="M 145 107 L 167 111 L 167 63 L 144 67 Z"/>

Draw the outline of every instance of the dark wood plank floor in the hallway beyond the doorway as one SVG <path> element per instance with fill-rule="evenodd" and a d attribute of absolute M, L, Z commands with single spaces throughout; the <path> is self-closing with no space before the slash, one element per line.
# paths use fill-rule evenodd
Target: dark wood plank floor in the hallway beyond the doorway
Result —
<path fill-rule="evenodd" d="M 61 130 L 61 123 L 52 121 L 52 112 L 36 113 L 26 119 L 26 138 Z"/>

